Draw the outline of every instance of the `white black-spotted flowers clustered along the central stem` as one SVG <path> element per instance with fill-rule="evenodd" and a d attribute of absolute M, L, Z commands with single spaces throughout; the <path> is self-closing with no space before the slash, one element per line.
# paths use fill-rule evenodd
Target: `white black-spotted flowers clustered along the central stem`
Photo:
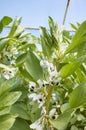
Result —
<path fill-rule="evenodd" d="M 48 95 L 48 91 L 46 91 L 45 94 L 43 91 L 40 90 L 43 90 L 46 87 L 53 87 L 54 85 L 58 85 L 61 80 L 59 78 L 59 73 L 57 72 L 56 66 L 53 63 L 48 62 L 47 60 L 41 60 L 40 65 L 43 68 L 44 73 L 45 71 L 47 72 L 45 73 L 45 75 L 47 76 L 45 76 L 46 78 L 44 80 L 37 80 L 36 83 L 30 81 L 28 94 L 28 98 L 32 102 L 37 102 L 39 104 L 38 108 L 42 108 L 41 117 L 30 125 L 30 128 L 35 130 L 43 130 L 45 128 L 45 120 L 48 123 L 48 120 L 45 118 L 46 116 L 48 116 L 48 119 L 56 119 L 58 117 L 57 107 L 51 108 L 49 110 L 49 115 L 47 115 L 46 97 Z M 52 93 L 51 96 L 53 101 L 57 100 L 55 93 Z"/>

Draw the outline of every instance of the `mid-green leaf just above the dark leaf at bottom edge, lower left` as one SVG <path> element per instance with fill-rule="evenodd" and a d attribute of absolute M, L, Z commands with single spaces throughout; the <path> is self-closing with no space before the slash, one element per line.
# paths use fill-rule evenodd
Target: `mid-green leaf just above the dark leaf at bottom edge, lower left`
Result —
<path fill-rule="evenodd" d="M 27 108 L 24 103 L 16 103 L 11 107 L 11 113 L 13 115 L 17 114 L 18 117 L 25 119 L 25 120 L 30 120 L 30 116 L 27 113 Z"/>

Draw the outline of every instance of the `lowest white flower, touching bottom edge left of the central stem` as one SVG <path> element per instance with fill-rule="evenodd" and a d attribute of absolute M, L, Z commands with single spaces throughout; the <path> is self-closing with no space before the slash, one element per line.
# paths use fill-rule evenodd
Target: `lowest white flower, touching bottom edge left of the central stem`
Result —
<path fill-rule="evenodd" d="M 42 124 L 42 118 L 36 120 L 34 123 L 30 125 L 31 129 L 35 130 L 43 130 L 44 125 Z"/>

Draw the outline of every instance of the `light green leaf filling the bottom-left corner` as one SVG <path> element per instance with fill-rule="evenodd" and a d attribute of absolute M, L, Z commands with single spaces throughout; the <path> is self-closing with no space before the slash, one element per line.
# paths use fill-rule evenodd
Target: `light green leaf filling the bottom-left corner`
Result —
<path fill-rule="evenodd" d="M 15 117 L 12 115 L 0 116 L 0 130 L 9 130 L 15 122 Z"/>

